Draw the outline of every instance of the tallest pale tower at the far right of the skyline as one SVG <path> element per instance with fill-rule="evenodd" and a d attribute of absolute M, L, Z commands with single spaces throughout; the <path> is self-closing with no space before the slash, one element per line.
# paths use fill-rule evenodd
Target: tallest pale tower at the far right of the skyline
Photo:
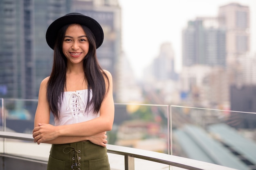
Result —
<path fill-rule="evenodd" d="M 227 62 L 245 57 L 250 50 L 249 7 L 231 3 L 219 8 L 220 27 L 226 30 Z"/>

